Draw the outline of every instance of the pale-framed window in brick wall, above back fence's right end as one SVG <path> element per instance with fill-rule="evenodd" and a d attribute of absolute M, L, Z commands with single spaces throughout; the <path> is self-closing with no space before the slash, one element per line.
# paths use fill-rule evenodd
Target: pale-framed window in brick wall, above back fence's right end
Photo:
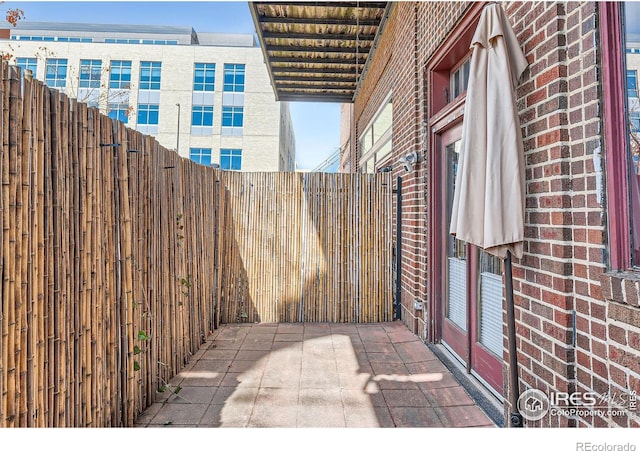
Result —
<path fill-rule="evenodd" d="M 360 172 L 374 173 L 391 155 L 391 125 L 393 104 L 389 98 L 384 102 L 373 121 L 365 128 L 360 138 Z"/>

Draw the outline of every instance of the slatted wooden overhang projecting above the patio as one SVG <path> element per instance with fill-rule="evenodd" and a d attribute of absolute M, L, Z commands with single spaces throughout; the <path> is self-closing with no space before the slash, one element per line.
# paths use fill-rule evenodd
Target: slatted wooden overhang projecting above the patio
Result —
<path fill-rule="evenodd" d="M 276 99 L 353 102 L 389 2 L 249 2 Z"/>

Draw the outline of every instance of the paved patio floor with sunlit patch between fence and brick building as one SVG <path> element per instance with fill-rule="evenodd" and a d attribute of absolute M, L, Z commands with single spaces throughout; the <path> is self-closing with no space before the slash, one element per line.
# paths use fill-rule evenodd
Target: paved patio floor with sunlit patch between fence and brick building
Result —
<path fill-rule="evenodd" d="M 138 427 L 495 427 L 400 322 L 228 324 Z"/>

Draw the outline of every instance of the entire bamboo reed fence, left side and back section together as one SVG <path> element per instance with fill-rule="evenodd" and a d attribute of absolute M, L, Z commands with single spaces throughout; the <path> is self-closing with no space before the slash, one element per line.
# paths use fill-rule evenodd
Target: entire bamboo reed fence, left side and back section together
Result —
<path fill-rule="evenodd" d="M 0 427 L 129 427 L 221 321 L 391 319 L 387 174 L 244 174 L 0 64 Z"/>

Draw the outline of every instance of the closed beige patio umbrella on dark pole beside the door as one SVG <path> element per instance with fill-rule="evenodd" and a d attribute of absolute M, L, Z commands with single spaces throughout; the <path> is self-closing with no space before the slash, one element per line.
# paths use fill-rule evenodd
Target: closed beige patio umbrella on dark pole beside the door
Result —
<path fill-rule="evenodd" d="M 518 370 L 513 318 L 511 254 L 522 257 L 524 154 L 515 86 L 528 63 L 498 4 L 485 7 L 471 42 L 469 84 L 462 125 L 450 233 L 505 260 L 511 368 L 512 426 Z"/>

